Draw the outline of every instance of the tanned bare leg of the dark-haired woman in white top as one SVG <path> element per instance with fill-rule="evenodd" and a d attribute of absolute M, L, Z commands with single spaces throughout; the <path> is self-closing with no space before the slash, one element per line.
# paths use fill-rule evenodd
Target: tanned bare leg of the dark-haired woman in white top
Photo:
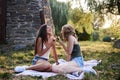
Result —
<path fill-rule="evenodd" d="M 29 66 L 26 70 L 52 71 L 51 64 L 45 60 L 38 60 L 35 65 Z"/>

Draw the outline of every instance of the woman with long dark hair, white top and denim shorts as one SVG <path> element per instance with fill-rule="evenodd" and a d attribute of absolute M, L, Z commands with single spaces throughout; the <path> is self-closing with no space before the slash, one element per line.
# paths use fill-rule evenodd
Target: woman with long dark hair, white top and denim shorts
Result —
<path fill-rule="evenodd" d="M 31 66 L 17 66 L 15 72 L 22 72 L 25 70 L 37 70 L 37 71 L 52 71 L 52 66 L 48 62 L 51 49 L 56 64 L 58 64 L 58 57 L 55 49 L 55 41 L 52 35 L 52 28 L 43 24 L 40 26 L 38 36 L 36 38 L 35 56 L 32 60 Z"/>

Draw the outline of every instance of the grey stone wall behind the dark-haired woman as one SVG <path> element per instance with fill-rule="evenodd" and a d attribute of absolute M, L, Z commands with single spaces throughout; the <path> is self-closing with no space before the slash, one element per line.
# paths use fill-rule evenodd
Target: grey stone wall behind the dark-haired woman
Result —
<path fill-rule="evenodd" d="M 7 43 L 34 44 L 37 30 L 41 25 L 41 10 L 49 16 L 45 16 L 45 20 L 48 19 L 47 23 L 51 23 L 51 13 L 48 9 L 50 9 L 48 0 L 7 0 Z"/>

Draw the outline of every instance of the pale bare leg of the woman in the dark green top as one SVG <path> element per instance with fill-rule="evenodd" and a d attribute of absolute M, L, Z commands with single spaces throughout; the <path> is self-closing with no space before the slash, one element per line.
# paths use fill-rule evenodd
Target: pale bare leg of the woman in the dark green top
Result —
<path fill-rule="evenodd" d="M 53 65 L 52 71 L 57 73 L 72 73 L 75 71 L 81 72 L 80 68 L 75 61 L 69 61 L 59 65 Z"/>

